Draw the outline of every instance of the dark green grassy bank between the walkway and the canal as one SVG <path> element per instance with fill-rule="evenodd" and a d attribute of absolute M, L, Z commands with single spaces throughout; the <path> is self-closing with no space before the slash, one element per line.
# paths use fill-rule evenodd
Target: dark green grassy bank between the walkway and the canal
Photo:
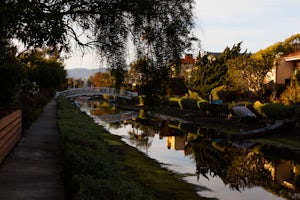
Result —
<path fill-rule="evenodd" d="M 68 199 L 201 199 L 196 186 L 58 100 Z"/>

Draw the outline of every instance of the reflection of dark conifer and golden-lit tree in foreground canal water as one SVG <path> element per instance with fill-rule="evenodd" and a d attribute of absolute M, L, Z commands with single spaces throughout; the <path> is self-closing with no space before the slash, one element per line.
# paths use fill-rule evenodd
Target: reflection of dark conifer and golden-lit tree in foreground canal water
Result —
<path fill-rule="evenodd" d="M 261 186 L 280 196 L 288 197 L 292 190 L 274 181 L 267 161 L 257 149 L 238 149 L 230 144 L 216 142 L 205 134 L 188 137 L 185 151 L 196 161 L 196 174 L 220 177 L 234 190 Z M 290 198 L 290 197 L 288 197 Z"/>

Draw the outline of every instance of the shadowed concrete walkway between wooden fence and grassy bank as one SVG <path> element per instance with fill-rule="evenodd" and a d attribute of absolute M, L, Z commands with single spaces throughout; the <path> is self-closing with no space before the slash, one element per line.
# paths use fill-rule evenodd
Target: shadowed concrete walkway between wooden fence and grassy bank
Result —
<path fill-rule="evenodd" d="M 0 165 L 0 199 L 65 199 L 54 99 Z"/>

